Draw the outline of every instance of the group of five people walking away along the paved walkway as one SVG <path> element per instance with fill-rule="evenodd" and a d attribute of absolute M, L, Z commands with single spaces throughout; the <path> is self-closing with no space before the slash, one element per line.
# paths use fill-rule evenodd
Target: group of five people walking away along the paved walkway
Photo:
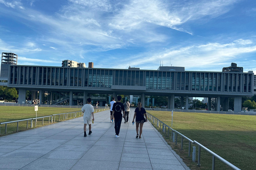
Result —
<path fill-rule="evenodd" d="M 121 103 L 122 97 L 117 96 L 117 102 L 115 98 L 112 98 L 110 102 L 110 123 L 115 122 L 115 133 L 116 138 L 119 138 L 119 132 L 121 128 L 122 118 L 124 118 L 124 123 L 127 123 L 129 120 L 130 113 L 130 103 L 129 100 L 126 99 L 125 103 Z M 92 133 L 92 123 L 94 121 L 94 108 L 91 105 L 91 98 L 87 98 L 87 104 L 82 107 L 82 112 L 84 113 L 84 137 L 86 134 L 86 126 L 89 124 L 89 135 Z M 138 103 L 138 107 L 135 109 L 132 123 L 134 120 L 136 122 L 136 138 L 141 138 L 143 123 L 147 122 L 147 115 L 145 108 L 141 107 L 141 103 Z M 123 114 L 122 114 L 123 113 Z"/>

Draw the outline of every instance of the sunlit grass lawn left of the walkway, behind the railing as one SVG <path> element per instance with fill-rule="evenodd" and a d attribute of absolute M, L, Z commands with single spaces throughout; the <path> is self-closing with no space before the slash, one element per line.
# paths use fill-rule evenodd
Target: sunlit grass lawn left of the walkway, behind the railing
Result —
<path fill-rule="evenodd" d="M 34 107 L 22 107 L 22 106 L 0 106 L 0 123 L 11 122 L 17 120 L 24 120 L 27 118 L 35 118 L 36 112 Z M 69 113 L 81 111 L 80 108 L 58 108 L 58 107 L 38 107 L 37 117 L 49 116 L 59 113 Z M 59 121 L 59 118 L 56 119 Z M 60 121 L 63 121 L 62 116 L 60 116 Z M 44 118 L 44 125 L 49 124 L 48 118 Z M 35 122 L 34 122 L 35 126 Z M 36 128 L 42 126 L 42 119 L 38 119 Z M 29 121 L 30 127 L 30 121 Z M 33 129 L 33 128 L 28 128 Z M 27 130 L 27 121 L 19 122 L 19 131 Z M 5 125 L 1 125 L 1 135 L 4 135 Z M 11 134 L 17 131 L 17 123 L 7 124 L 7 133 Z"/>

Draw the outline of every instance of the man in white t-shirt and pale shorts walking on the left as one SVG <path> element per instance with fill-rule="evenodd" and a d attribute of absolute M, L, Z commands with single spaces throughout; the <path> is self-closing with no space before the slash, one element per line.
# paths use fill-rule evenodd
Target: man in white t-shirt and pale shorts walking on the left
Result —
<path fill-rule="evenodd" d="M 85 104 L 81 111 L 84 113 L 84 137 L 87 137 L 86 135 L 86 126 L 89 124 L 89 134 L 92 133 L 92 120 L 94 121 L 94 108 L 91 105 L 92 99 L 87 98 L 87 104 Z"/>

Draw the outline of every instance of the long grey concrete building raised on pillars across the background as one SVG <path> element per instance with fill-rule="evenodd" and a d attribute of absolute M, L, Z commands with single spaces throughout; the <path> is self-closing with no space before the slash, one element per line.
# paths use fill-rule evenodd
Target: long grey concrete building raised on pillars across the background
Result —
<path fill-rule="evenodd" d="M 220 106 L 227 111 L 228 98 L 234 98 L 235 112 L 241 112 L 242 96 L 253 96 L 253 83 L 252 71 L 159 71 L 27 65 L 11 65 L 8 78 L 8 87 L 19 89 L 19 103 L 26 100 L 26 90 L 39 91 L 41 101 L 47 92 L 47 96 L 51 96 L 47 99 L 48 103 L 57 104 L 57 100 L 69 99 L 70 105 L 74 98 L 86 99 L 88 94 L 115 97 L 118 94 L 140 95 L 142 105 L 145 104 L 145 96 L 167 96 L 169 108 L 174 108 L 174 97 L 185 97 L 188 109 L 189 97 L 207 97 L 208 102 L 216 98 L 217 111 L 220 111 Z"/>

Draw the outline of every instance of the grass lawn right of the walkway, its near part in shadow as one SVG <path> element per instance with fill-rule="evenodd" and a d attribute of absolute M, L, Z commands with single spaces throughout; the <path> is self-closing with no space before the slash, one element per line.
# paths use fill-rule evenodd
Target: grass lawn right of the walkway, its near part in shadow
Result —
<path fill-rule="evenodd" d="M 171 127 L 171 112 L 147 112 Z M 256 169 L 256 116 L 186 112 L 174 112 L 173 115 L 174 130 L 196 140 L 238 168 Z M 191 169 L 211 169 L 212 156 L 206 151 L 201 149 L 201 167 L 197 167 L 188 157 L 186 140 L 180 150 L 181 137 L 178 136 L 179 145 L 174 145 L 171 137 L 163 136 Z M 215 169 L 231 168 L 216 159 Z"/>

